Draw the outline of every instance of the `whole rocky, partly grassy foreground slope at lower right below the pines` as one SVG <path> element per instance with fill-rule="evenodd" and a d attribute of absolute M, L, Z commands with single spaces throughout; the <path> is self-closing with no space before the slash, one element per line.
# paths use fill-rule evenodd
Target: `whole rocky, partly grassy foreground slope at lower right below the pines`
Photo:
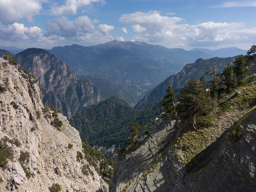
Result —
<path fill-rule="evenodd" d="M 236 90 L 207 116 L 214 125 L 191 130 L 175 116 L 160 119 L 134 151 L 119 154 L 111 191 L 254 191 L 256 74 Z"/>

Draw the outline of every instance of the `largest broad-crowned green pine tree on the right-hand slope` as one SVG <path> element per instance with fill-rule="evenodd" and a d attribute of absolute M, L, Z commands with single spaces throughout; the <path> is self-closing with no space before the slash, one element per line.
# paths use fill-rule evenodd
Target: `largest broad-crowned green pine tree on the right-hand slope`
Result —
<path fill-rule="evenodd" d="M 196 118 L 206 115 L 213 108 L 213 102 L 205 83 L 199 79 L 188 80 L 187 86 L 181 90 L 177 111 L 196 129 Z"/>

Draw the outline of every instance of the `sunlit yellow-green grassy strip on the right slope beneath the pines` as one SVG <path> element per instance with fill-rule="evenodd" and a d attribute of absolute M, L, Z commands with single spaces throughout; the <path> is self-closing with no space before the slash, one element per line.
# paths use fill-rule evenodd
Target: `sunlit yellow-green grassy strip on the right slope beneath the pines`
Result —
<path fill-rule="evenodd" d="M 256 74 L 247 77 L 241 81 L 236 88 L 240 95 L 232 98 L 214 112 L 208 115 L 214 126 L 209 126 L 197 131 L 185 131 L 180 134 L 173 145 L 173 153 L 182 164 L 189 163 L 197 154 L 204 150 L 210 143 L 214 142 L 218 136 L 230 128 L 229 124 L 236 124 L 238 117 L 245 115 L 256 104 Z M 232 90 L 226 97 L 220 100 L 220 103 L 234 93 Z M 218 124 L 220 119 L 225 120 L 223 124 Z M 229 124 L 227 121 L 230 121 Z M 226 124 L 226 127 L 224 125 Z M 237 130 L 237 127 L 232 127 Z M 231 130 L 232 131 L 232 130 Z"/>

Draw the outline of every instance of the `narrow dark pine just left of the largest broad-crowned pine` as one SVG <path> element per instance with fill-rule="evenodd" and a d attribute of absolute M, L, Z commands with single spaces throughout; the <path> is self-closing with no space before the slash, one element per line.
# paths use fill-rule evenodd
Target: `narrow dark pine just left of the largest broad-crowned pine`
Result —
<path fill-rule="evenodd" d="M 163 110 L 165 114 L 177 114 L 176 106 L 174 103 L 174 100 L 176 99 L 175 95 L 176 93 L 173 91 L 173 88 L 168 86 L 166 89 L 167 95 L 164 96 L 163 100 L 161 101 Z"/>

